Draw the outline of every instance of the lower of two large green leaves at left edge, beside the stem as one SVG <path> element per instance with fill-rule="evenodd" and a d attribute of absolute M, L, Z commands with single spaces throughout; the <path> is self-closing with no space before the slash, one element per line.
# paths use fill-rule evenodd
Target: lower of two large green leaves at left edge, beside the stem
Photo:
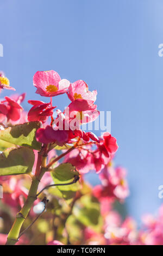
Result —
<path fill-rule="evenodd" d="M 32 149 L 6 149 L 0 154 L 0 176 L 29 173 L 32 171 L 34 160 Z"/>

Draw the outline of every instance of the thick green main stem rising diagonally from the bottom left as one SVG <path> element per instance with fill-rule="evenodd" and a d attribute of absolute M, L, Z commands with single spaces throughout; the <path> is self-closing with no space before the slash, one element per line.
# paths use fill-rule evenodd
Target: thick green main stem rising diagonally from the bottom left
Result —
<path fill-rule="evenodd" d="M 20 234 L 22 224 L 26 220 L 26 218 L 29 214 L 29 211 L 32 208 L 32 205 L 33 205 L 34 201 L 36 200 L 37 188 L 39 186 L 39 183 L 40 183 L 40 180 L 41 180 L 43 174 L 46 171 L 46 169 L 44 168 L 46 166 L 46 157 L 42 157 L 41 166 L 42 166 L 42 168 L 40 170 L 39 176 L 33 177 L 26 203 L 24 204 L 21 211 L 18 212 L 18 214 L 15 218 L 14 224 L 12 225 L 12 228 L 8 234 L 8 239 L 7 239 L 6 245 L 15 245 L 15 243 L 18 241 L 18 236 Z"/>

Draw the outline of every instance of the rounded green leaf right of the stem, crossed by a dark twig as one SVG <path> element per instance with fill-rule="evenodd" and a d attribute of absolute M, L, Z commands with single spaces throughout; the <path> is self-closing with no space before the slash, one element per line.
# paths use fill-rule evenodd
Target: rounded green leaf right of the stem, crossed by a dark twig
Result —
<path fill-rule="evenodd" d="M 65 184 L 72 182 L 74 180 L 74 175 L 79 175 L 75 170 L 75 167 L 71 163 L 61 163 L 58 167 L 54 168 L 51 172 L 52 178 L 55 184 Z M 58 186 L 57 187 L 60 193 L 57 193 L 57 196 L 62 194 L 62 197 L 65 200 L 73 198 L 76 194 L 76 191 L 80 189 L 79 181 L 72 185 Z M 55 188 L 51 188 L 51 191 Z M 52 192 L 53 193 L 53 192 Z"/>

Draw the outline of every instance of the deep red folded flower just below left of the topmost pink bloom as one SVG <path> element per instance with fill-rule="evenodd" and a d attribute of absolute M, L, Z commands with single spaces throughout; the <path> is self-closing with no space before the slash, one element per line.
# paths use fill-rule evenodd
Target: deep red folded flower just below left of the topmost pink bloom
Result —
<path fill-rule="evenodd" d="M 45 122 L 49 116 L 53 115 L 51 102 L 45 103 L 38 100 L 28 100 L 33 107 L 28 112 L 28 121 L 42 121 Z"/>

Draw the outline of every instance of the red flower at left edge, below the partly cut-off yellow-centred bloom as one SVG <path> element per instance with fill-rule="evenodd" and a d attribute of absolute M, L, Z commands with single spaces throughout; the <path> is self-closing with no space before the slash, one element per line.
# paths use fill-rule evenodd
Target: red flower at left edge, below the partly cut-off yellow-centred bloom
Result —
<path fill-rule="evenodd" d="M 18 99 L 19 100 L 19 99 Z M 21 105 L 11 99 L 8 96 L 5 96 L 5 100 L 0 102 L 0 121 L 4 121 L 7 117 L 7 120 L 17 121 L 21 118 L 22 107 Z"/>

